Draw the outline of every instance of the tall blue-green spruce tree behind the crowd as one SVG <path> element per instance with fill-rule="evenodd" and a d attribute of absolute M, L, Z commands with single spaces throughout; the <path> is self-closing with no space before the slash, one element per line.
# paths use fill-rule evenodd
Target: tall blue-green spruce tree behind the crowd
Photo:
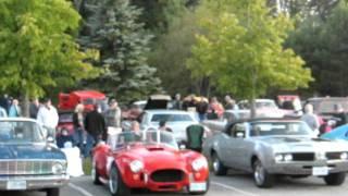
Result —
<path fill-rule="evenodd" d="M 100 51 L 95 64 L 105 70 L 91 85 L 124 100 L 158 91 L 160 79 L 147 62 L 152 36 L 137 22 L 141 11 L 128 0 L 89 0 L 82 11 L 80 42 Z"/>

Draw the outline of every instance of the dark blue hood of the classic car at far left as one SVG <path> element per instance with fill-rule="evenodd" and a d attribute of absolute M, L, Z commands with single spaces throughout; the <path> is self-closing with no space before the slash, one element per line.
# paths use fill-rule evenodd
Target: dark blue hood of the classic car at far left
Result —
<path fill-rule="evenodd" d="M 47 144 L 1 144 L 0 159 L 65 159 L 65 156 Z"/>

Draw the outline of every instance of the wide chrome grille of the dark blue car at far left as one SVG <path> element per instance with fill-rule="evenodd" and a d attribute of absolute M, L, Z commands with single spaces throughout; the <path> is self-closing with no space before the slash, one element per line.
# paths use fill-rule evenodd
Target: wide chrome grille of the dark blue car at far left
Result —
<path fill-rule="evenodd" d="M 53 163 L 47 160 L 0 160 L 0 175 L 52 174 Z"/>

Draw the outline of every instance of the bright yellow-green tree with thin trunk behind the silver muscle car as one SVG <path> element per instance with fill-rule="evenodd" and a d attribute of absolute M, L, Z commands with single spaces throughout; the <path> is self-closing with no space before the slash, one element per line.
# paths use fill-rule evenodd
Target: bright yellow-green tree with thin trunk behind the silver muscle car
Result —
<path fill-rule="evenodd" d="M 188 61 L 196 76 L 208 75 L 220 89 L 251 102 L 270 87 L 295 89 L 312 79 L 302 59 L 283 48 L 290 20 L 270 15 L 263 0 L 207 0 L 198 14 L 204 34 L 197 35 Z"/>

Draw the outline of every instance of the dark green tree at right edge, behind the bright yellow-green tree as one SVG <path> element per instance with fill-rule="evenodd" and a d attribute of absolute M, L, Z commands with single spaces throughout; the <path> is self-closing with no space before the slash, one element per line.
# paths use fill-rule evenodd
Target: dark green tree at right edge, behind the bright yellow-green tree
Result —
<path fill-rule="evenodd" d="M 323 20 L 319 15 L 303 21 L 287 40 L 313 71 L 312 89 L 321 95 L 348 95 L 348 5 L 341 1 Z"/>

